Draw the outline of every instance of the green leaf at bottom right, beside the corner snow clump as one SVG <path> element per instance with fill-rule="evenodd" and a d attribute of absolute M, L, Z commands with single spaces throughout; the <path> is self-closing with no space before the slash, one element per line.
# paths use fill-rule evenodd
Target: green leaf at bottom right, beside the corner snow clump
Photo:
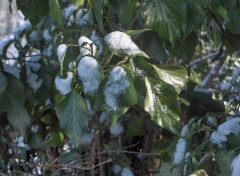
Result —
<path fill-rule="evenodd" d="M 215 155 L 215 159 L 218 163 L 218 168 L 221 171 L 221 175 L 231 175 L 232 160 L 236 156 L 234 151 L 220 151 Z"/>

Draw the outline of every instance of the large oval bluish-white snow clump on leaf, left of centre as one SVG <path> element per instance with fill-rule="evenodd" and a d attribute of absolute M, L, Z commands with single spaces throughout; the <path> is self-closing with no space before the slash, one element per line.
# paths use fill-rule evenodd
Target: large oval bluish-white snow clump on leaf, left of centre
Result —
<path fill-rule="evenodd" d="M 94 94 L 101 81 L 100 66 L 96 59 L 84 56 L 78 64 L 78 76 L 84 86 L 84 92 Z"/>

